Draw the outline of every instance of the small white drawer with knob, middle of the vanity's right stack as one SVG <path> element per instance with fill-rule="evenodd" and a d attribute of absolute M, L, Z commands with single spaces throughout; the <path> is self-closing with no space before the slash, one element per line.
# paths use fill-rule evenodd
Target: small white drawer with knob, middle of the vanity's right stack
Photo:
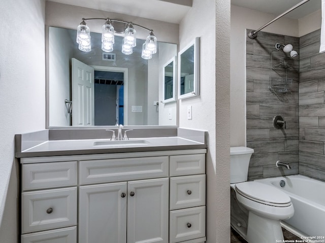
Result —
<path fill-rule="evenodd" d="M 170 185 L 171 210 L 205 205 L 205 175 L 173 177 Z"/>

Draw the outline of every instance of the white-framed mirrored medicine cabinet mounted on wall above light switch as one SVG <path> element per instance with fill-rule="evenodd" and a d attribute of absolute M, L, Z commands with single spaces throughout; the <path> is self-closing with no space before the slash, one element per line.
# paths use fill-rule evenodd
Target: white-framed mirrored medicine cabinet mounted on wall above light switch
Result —
<path fill-rule="evenodd" d="M 178 98 L 199 95 L 200 37 L 196 37 L 178 53 Z"/>

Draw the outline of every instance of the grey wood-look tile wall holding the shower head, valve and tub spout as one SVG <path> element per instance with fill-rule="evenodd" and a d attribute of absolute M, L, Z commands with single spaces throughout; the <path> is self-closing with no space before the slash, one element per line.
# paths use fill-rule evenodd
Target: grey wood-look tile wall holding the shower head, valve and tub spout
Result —
<path fill-rule="evenodd" d="M 276 51 L 276 43 L 290 43 L 294 50 L 299 51 L 298 37 L 259 32 L 255 39 L 247 38 L 246 42 L 246 140 L 247 146 L 254 149 L 248 180 L 298 174 L 299 58 L 288 57 L 289 68 L 280 66 L 272 71 L 273 77 L 284 78 L 287 71 L 287 77 L 292 78 L 288 92 L 271 92 L 271 52 L 274 51 L 272 63 L 276 59 L 286 60 L 287 55 Z M 284 118 L 286 129 L 278 130 L 273 127 L 275 115 Z M 292 169 L 277 168 L 277 160 L 289 163 Z"/>

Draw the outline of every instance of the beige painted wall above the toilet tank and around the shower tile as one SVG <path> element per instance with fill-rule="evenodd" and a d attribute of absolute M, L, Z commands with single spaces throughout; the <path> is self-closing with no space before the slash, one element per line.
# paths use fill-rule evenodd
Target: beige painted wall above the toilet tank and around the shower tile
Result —
<path fill-rule="evenodd" d="M 231 146 L 246 145 L 246 29 L 257 29 L 275 17 L 272 14 L 231 6 Z M 297 37 L 298 20 L 282 17 L 263 31 Z"/>

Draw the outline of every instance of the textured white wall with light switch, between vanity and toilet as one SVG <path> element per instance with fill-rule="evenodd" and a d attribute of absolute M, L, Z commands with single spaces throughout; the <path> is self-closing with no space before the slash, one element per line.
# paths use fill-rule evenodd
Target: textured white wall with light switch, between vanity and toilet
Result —
<path fill-rule="evenodd" d="M 209 133 L 207 172 L 207 242 L 230 242 L 230 1 L 194 0 L 180 23 L 182 50 L 200 37 L 200 96 L 179 102 L 179 127 Z M 187 119 L 187 106 L 192 119 Z"/>

